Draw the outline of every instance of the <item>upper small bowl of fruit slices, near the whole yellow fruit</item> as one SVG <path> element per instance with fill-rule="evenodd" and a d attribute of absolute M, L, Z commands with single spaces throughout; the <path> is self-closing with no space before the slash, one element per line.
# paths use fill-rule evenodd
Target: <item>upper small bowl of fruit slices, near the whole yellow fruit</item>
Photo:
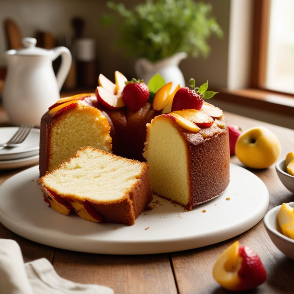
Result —
<path fill-rule="evenodd" d="M 285 159 L 277 162 L 276 171 L 283 185 L 294 193 L 294 152 L 289 152 Z"/>

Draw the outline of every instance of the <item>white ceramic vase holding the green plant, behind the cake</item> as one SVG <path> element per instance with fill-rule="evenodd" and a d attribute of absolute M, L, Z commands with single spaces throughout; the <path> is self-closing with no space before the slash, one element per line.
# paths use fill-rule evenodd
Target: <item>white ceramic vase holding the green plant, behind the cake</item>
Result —
<path fill-rule="evenodd" d="M 156 63 L 152 63 L 146 58 L 140 58 L 135 63 L 135 71 L 137 77 L 143 79 L 146 84 L 155 74 L 159 73 L 166 83 L 173 82 L 173 87 L 178 84 L 184 87 L 185 79 L 178 65 L 185 58 L 187 58 L 187 53 L 185 52 L 176 53 Z"/>

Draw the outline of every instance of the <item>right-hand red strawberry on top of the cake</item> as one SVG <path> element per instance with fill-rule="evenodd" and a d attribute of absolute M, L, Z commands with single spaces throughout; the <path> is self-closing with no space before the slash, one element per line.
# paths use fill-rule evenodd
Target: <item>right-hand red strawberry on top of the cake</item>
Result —
<path fill-rule="evenodd" d="M 173 104 L 171 111 L 183 109 L 197 109 L 200 110 L 203 105 L 203 94 L 195 91 L 195 80 L 190 79 L 189 88 L 180 88 L 173 97 Z M 198 89 L 198 88 L 197 88 Z"/>

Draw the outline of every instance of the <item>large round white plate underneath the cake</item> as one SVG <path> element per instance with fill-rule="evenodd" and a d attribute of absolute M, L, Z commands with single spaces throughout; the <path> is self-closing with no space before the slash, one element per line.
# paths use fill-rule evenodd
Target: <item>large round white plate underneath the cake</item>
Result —
<path fill-rule="evenodd" d="M 192 211 L 154 196 L 154 208 L 144 211 L 134 225 L 125 226 L 91 223 L 48 208 L 34 166 L 0 186 L 0 221 L 24 238 L 82 252 L 153 254 L 202 247 L 245 232 L 267 211 L 265 184 L 240 166 L 231 164 L 230 174 L 224 193 Z"/>

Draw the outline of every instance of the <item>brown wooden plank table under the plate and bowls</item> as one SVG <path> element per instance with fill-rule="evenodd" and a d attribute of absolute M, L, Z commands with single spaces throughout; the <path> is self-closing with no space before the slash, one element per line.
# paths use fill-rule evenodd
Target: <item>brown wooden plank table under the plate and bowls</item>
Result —
<path fill-rule="evenodd" d="M 282 145 L 280 158 L 285 158 L 288 152 L 294 150 L 294 131 L 290 129 L 232 113 L 225 113 L 225 116 L 229 124 L 241 126 L 243 130 L 252 126 L 265 126 L 272 130 Z M 0 108 L 0 126 L 6 126 L 7 123 L 7 117 Z M 235 156 L 231 157 L 231 161 L 241 165 Z M 0 184 L 23 169 L 0 171 Z M 274 165 L 264 170 L 250 171 L 261 178 L 268 187 L 269 209 L 283 202 L 294 201 L 293 193 L 280 182 Z M 212 268 L 220 253 L 235 240 L 239 240 L 242 245 L 248 245 L 258 253 L 268 274 L 263 285 L 248 293 L 294 292 L 294 261 L 273 245 L 262 220 L 247 232 L 215 245 L 154 255 L 99 255 L 62 250 L 26 240 L 1 224 L 0 238 L 16 240 L 25 262 L 45 257 L 50 260 L 61 277 L 80 283 L 107 285 L 117 294 L 229 293 L 213 279 Z"/>

